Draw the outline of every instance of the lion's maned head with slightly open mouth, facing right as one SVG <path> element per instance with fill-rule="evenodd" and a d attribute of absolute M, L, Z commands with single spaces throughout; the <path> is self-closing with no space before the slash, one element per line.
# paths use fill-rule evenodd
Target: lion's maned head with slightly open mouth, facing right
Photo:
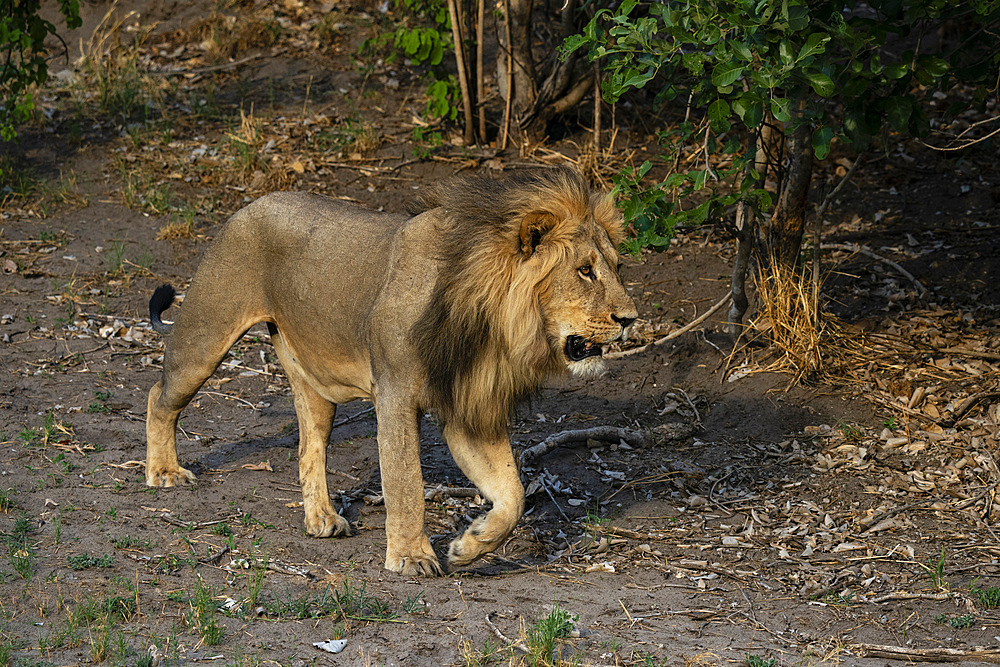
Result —
<path fill-rule="evenodd" d="M 440 273 L 413 329 L 425 401 L 484 437 L 506 434 L 546 376 L 603 368 L 635 303 L 619 276 L 621 216 L 569 169 L 467 177 L 425 194 L 440 215 Z"/>

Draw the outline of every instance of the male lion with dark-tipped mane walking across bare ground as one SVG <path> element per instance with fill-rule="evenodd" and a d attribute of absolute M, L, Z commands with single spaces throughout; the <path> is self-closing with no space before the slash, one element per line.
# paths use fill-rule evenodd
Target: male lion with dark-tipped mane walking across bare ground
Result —
<path fill-rule="evenodd" d="M 495 549 L 524 509 L 508 420 L 546 376 L 602 366 L 635 304 L 618 275 L 621 220 L 576 173 L 540 170 L 433 188 L 415 217 L 304 193 L 236 213 L 195 274 L 149 391 L 146 483 L 194 481 L 177 461 L 180 411 L 257 322 L 288 375 L 299 420 L 306 532 L 349 534 L 330 503 L 326 448 L 337 403 L 375 403 L 385 495 L 385 566 L 442 574 L 424 533 L 420 417 L 435 411 L 452 456 L 493 508 L 448 564 Z"/>

